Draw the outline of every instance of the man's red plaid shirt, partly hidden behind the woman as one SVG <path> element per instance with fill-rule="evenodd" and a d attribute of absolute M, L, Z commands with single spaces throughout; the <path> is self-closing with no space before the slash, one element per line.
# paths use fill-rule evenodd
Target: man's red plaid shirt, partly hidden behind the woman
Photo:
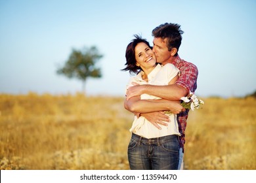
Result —
<path fill-rule="evenodd" d="M 198 78 L 198 68 L 193 63 L 184 61 L 179 56 L 173 62 L 173 65 L 181 71 L 181 75 L 175 84 L 184 87 L 188 93 L 196 91 L 196 80 Z M 188 119 L 188 112 L 186 110 L 177 115 L 177 120 L 179 124 L 179 132 L 181 133 L 180 145 L 184 152 L 185 144 L 185 129 L 186 129 L 186 120 Z"/>

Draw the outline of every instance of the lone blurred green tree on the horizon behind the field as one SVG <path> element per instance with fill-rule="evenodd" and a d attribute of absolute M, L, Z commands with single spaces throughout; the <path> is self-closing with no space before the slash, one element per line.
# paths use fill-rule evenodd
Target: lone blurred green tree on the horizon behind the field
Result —
<path fill-rule="evenodd" d="M 95 46 L 84 48 L 83 51 L 73 49 L 65 65 L 57 69 L 57 74 L 82 80 L 83 92 L 85 92 L 87 78 L 100 78 L 102 76 L 100 68 L 95 66 L 100 58 L 102 58 L 102 55 L 98 53 Z"/>

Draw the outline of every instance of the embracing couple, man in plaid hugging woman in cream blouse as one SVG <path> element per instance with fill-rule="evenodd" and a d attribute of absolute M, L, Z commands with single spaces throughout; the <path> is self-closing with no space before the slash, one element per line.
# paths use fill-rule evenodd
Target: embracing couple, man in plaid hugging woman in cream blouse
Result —
<path fill-rule="evenodd" d="M 131 169 L 183 169 L 188 109 L 181 97 L 196 90 L 197 67 L 179 58 L 179 24 L 161 24 L 152 31 L 153 47 L 135 35 L 125 53 L 123 71 L 135 74 L 127 84 L 124 106 L 135 114 L 130 131 Z"/>

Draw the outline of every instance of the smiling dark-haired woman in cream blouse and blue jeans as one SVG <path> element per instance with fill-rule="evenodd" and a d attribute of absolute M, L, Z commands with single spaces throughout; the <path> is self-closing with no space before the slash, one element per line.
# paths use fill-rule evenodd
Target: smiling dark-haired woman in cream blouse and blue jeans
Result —
<path fill-rule="evenodd" d="M 164 66 L 156 63 L 156 56 L 152 51 L 148 41 L 135 35 L 135 39 L 127 46 L 125 53 L 127 65 L 123 71 L 137 74 L 132 77 L 127 85 L 132 84 L 154 84 L 167 85 L 174 84 L 179 77 L 179 69 L 167 63 Z M 141 99 L 141 100 L 140 100 Z M 174 105 L 179 103 L 167 101 L 158 97 L 142 94 L 132 97 L 133 106 L 129 107 L 134 112 L 140 112 L 146 108 L 154 108 L 144 105 L 144 100 L 157 103 L 155 111 L 171 110 Z M 156 108 L 156 106 L 154 106 Z M 131 141 L 128 146 L 128 159 L 131 169 L 177 169 L 179 164 L 179 129 L 175 114 L 166 114 L 170 122 L 161 129 L 156 128 L 146 118 L 136 116 L 130 129 L 132 133 Z"/>

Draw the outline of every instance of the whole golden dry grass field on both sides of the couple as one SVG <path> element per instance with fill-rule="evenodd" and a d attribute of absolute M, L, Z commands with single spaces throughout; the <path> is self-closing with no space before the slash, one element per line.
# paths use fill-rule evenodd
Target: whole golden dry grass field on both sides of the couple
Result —
<path fill-rule="evenodd" d="M 256 169 L 256 99 L 190 111 L 185 169 Z M 122 97 L 0 94 L 1 169 L 129 169 L 133 114 Z"/>

